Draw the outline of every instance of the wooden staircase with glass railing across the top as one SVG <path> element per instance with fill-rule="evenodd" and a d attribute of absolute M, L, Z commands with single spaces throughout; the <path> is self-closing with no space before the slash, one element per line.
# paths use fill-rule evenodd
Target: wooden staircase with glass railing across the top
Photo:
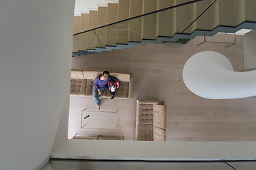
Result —
<path fill-rule="evenodd" d="M 175 8 L 133 18 L 171 6 Z M 186 43 L 197 35 L 255 29 L 255 11 L 255 0 L 119 0 L 75 16 L 73 33 L 90 31 L 73 36 L 73 56 L 148 43 Z M 106 26 L 127 18 L 133 19 Z"/>

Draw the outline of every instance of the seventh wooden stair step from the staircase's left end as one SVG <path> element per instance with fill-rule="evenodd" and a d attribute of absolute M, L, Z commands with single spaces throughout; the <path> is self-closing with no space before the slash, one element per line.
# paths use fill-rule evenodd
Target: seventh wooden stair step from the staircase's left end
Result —
<path fill-rule="evenodd" d="M 130 0 L 129 17 L 142 15 L 143 0 Z M 130 21 L 129 40 L 132 42 L 142 41 L 142 18 Z"/>

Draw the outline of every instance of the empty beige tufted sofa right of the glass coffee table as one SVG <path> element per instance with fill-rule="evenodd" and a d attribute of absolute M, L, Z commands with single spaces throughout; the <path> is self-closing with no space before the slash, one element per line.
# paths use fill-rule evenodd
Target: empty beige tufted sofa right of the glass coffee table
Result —
<path fill-rule="evenodd" d="M 164 101 L 137 100 L 135 140 L 165 141 L 166 111 Z"/>

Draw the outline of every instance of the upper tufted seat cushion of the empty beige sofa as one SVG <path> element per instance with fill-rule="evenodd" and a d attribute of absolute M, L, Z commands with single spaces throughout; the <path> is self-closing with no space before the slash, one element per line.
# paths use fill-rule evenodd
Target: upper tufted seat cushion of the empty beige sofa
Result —
<path fill-rule="evenodd" d="M 136 123 L 137 125 L 153 124 L 153 105 L 140 104 L 138 106 Z"/>

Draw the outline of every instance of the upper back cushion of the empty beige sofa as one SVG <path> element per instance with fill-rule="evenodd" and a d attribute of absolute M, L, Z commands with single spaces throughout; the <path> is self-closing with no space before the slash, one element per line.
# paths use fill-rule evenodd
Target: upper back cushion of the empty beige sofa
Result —
<path fill-rule="evenodd" d="M 153 105 L 153 125 L 162 129 L 166 128 L 166 113 L 164 105 Z"/>

